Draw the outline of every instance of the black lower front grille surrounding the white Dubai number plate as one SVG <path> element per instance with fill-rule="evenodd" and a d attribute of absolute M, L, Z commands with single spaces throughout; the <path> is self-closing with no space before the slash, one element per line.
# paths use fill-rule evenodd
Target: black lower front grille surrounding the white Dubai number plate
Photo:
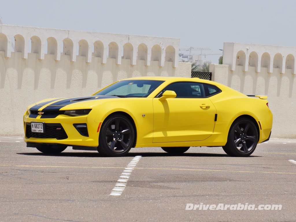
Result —
<path fill-rule="evenodd" d="M 26 127 L 27 138 L 40 138 L 40 139 L 67 139 L 67 133 L 60 123 L 45 123 L 44 133 L 33 133 L 31 131 L 31 123 L 27 123 Z"/>

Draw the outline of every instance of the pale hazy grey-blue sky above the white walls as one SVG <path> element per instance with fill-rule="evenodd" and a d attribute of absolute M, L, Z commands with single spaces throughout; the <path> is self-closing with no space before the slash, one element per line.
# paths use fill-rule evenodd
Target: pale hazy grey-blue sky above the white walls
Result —
<path fill-rule="evenodd" d="M 296 46 L 295 9 L 284 0 L 0 0 L 4 24 L 180 38 L 180 48 L 211 49 L 203 53 L 221 53 L 223 42 Z"/>

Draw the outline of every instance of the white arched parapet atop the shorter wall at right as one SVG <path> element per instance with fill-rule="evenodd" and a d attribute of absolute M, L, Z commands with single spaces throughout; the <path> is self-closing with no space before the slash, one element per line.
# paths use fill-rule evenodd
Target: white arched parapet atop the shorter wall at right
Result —
<path fill-rule="evenodd" d="M 230 70 L 236 70 L 236 66 L 242 66 L 243 71 L 249 67 L 255 67 L 256 72 L 267 68 L 268 73 L 279 69 L 280 73 L 292 70 L 295 74 L 296 47 L 268 46 L 246 43 L 224 42 L 223 65 L 229 65 Z"/>

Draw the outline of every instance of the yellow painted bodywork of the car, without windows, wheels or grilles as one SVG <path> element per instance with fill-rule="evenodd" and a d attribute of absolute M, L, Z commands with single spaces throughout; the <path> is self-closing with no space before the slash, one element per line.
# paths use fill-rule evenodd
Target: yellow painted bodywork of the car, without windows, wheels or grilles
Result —
<path fill-rule="evenodd" d="M 136 131 L 135 147 L 224 146 L 231 124 L 243 115 L 256 121 L 259 133 L 258 143 L 270 136 L 272 113 L 266 105 L 268 102 L 266 99 L 251 98 L 222 84 L 198 78 L 136 77 L 127 80 L 164 82 L 146 98 L 101 98 L 95 93 L 89 96 L 95 97 L 92 100 L 79 101 L 76 97 L 56 98 L 31 104 L 27 110 L 35 107 L 34 109 L 42 112 L 53 107 L 58 109 L 60 106 L 54 104 L 68 101 L 69 104 L 65 102 L 66 105 L 61 107 L 60 111 L 81 109 L 91 109 L 91 111 L 88 115 L 61 114 L 55 118 L 44 118 L 42 114 L 34 116 L 26 111 L 23 118 L 25 142 L 96 147 L 99 145 L 98 127 L 114 112 L 126 113 L 131 117 Z M 221 92 L 208 98 L 168 98 L 160 101 L 155 97 L 170 83 L 184 81 L 215 85 L 221 89 Z M 202 105 L 207 106 L 202 107 Z M 217 115 L 216 121 L 215 115 Z M 66 139 L 28 138 L 26 128 L 31 122 L 60 123 L 68 137 Z M 82 136 L 76 130 L 73 124 L 77 123 L 87 124 L 88 137 Z"/>

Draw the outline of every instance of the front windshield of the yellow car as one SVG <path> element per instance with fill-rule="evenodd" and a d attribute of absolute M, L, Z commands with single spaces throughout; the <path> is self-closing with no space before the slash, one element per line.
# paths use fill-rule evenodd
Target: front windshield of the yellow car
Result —
<path fill-rule="evenodd" d="M 147 97 L 164 81 L 123 80 L 103 89 L 96 96 Z"/>

